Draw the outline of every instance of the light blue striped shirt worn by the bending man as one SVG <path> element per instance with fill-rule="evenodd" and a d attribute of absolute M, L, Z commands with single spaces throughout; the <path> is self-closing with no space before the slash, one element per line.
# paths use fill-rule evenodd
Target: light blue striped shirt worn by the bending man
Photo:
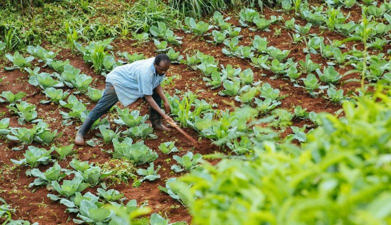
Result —
<path fill-rule="evenodd" d="M 106 82 L 113 84 L 118 100 L 125 107 L 139 97 L 152 95 L 153 89 L 163 80 L 164 75 L 156 73 L 154 60 L 152 57 L 117 66 L 107 74 Z"/>

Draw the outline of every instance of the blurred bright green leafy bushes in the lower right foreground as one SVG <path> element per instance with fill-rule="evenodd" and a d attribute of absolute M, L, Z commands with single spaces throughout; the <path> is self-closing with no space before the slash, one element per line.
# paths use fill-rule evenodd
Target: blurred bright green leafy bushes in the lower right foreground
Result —
<path fill-rule="evenodd" d="M 301 150 L 266 142 L 254 158 L 180 177 L 193 222 L 389 224 L 391 99 L 377 92 L 342 106 L 345 116 L 323 114 Z"/>

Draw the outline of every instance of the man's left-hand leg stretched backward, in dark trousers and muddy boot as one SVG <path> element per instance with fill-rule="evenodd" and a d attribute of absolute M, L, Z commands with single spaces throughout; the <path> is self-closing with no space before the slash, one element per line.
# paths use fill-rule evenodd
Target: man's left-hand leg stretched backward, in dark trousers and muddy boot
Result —
<path fill-rule="evenodd" d="M 84 120 L 80 129 L 76 133 L 75 144 L 85 145 L 84 136 L 91 128 L 91 125 L 106 113 L 116 102 L 118 101 L 117 94 L 115 93 L 114 86 L 111 83 L 106 82 L 106 88 L 103 92 L 102 98 L 98 101 L 95 107 L 88 114 L 86 120 Z"/>

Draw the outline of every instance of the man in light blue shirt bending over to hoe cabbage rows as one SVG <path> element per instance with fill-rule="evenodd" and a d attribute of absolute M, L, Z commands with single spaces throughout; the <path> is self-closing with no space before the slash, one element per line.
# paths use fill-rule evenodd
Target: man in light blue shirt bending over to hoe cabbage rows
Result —
<path fill-rule="evenodd" d="M 106 77 L 106 88 L 86 120 L 76 133 L 75 144 L 85 145 L 84 136 L 95 120 L 106 113 L 118 100 L 126 107 L 142 97 L 149 104 L 149 118 L 152 127 L 158 130 L 168 130 L 161 124 L 161 117 L 166 122 L 172 119 L 160 109 L 161 100 L 164 110 L 169 113 L 170 105 L 164 95 L 160 82 L 170 66 L 166 54 L 138 60 L 130 64 L 115 67 Z"/>

